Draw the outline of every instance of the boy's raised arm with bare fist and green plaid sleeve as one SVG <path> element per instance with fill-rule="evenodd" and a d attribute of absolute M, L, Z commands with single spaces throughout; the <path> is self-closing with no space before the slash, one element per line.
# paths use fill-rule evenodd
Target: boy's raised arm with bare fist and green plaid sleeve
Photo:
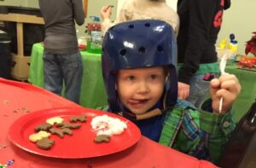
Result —
<path fill-rule="evenodd" d="M 200 113 L 200 125 L 203 134 L 207 135 L 205 139 L 210 158 L 216 162 L 231 131 L 235 129 L 231 107 L 240 93 L 241 85 L 235 75 L 224 74 L 212 79 L 210 86 L 212 100 L 206 101 L 201 107 L 205 111 Z M 220 104 L 221 97 L 223 104 Z M 221 111 L 219 106 L 222 106 Z"/>

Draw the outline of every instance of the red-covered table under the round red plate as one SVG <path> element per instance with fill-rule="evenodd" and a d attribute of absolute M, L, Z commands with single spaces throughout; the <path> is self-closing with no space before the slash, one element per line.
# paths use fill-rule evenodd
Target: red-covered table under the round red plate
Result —
<path fill-rule="evenodd" d="M 136 145 L 117 154 L 92 159 L 54 159 L 17 148 L 7 137 L 9 126 L 26 113 L 52 107 L 79 107 L 47 90 L 0 78 L 0 164 L 9 159 L 9 168 L 81 168 L 81 167 L 216 167 L 153 142 L 142 136 Z M 5 147 L 6 148 L 3 148 Z"/>

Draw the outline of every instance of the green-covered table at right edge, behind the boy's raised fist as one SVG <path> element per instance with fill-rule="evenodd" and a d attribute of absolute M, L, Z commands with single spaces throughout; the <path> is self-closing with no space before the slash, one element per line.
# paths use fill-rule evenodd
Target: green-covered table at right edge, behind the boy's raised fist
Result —
<path fill-rule="evenodd" d="M 225 72 L 236 75 L 241 84 L 241 93 L 234 103 L 238 121 L 256 99 L 256 72 L 238 69 L 236 66 L 227 66 Z"/>

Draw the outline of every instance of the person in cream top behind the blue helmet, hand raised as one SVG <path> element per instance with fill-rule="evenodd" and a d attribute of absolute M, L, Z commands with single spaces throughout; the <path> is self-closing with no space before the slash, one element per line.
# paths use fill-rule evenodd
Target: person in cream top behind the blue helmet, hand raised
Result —
<path fill-rule="evenodd" d="M 117 18 L 112 23 L 110 16 L 111 6 L 102 7 L 102 32 L 108 31 L 110 26 L 129 20 L 165 20 L 177 35 L 179 19 L 177 13 L 166 4 L 166 0 L 126 0 L 119 11 Z"/>

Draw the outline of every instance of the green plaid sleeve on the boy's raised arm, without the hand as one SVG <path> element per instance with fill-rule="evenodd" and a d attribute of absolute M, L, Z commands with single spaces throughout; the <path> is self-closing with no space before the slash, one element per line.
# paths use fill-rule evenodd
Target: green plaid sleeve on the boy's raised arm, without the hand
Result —
<path fill-rule="evenodd" d="M 211 102 L 208 106 L 211 107 Z M 225 144 L 229 141 L 230 134 L 235 128 L 233 109 L 221 114 L 200 111 L 201 142 L 207 148 L 209 159 L 213 163 L 218 162 Z M 197 149 L 200 150 L 200 148 Z M 198 151 L 195 150 L 195 154 L 198 154 Z"/>

